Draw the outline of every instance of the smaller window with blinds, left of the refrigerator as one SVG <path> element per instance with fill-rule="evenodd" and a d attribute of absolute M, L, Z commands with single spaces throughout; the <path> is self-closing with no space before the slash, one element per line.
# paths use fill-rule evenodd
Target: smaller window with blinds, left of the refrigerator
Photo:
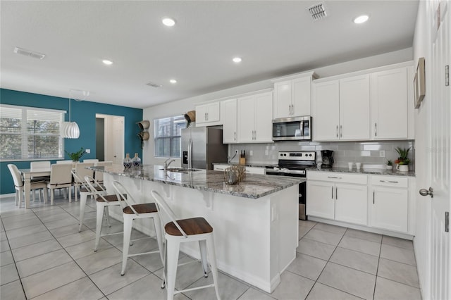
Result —
<path fill-rule="evenodd" d="M 185 127 L 183 115 L 154 120 L 154 155 L 180 158 L 180 130 Z"/>

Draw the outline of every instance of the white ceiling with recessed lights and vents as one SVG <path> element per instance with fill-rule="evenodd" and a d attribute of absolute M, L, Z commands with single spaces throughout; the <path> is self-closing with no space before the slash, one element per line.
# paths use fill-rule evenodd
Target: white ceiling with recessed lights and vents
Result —
<path fill-rule="evenodd" d="M 306 8 L 319 3 L 328 16 L 313 21 Z M 146 108 L 409 48 L 418 4 L 1 1 L 0 86 Z M 362 13 L 369 21 L 354 24 Z M 174 18 L 175 26 L 164 26 L 163 17 Z M 46 56 L 18 55 L 16 46 Z M 235 56 L 242 62 L 233 63 Z"/>

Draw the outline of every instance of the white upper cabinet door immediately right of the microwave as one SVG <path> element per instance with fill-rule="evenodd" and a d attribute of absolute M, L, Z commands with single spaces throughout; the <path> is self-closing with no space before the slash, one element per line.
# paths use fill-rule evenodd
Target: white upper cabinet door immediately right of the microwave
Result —
<path fill-rule="evenodd" d="M 313 137 L 315 141 L 338 139 L 338 80 L 314 84 Z"/>

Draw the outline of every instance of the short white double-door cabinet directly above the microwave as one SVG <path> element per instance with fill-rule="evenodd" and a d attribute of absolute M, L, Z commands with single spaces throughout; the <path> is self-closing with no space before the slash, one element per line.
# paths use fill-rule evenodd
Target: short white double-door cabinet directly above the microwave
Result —
<path fill-rule="evenodd" d="M 314 73 L 283 77 L 274 82 L 273 118 L 311 115 L 311 80 Z M 285 79 L 285 80 L 284 80 Z"/>

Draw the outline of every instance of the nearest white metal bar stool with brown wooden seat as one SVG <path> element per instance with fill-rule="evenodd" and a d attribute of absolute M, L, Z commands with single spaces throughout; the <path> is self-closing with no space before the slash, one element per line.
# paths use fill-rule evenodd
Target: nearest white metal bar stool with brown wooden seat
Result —
<path fill-rule="evenodd" d="M 221 299 L 218 291 L 218 268 L 216 267 L 216 253 L 214 249 L 213 227 L 204 218 L 190 218 L 183 220 L 176 220 L 175 213 L 166 204 L 163 197 L 156 191 L 152 190 L 152 196 L 156 201 L 156 207 L 160 213 L 160 219 L 163 217 L 162 212 L 171 220 L 171 222 L 164 225 L 166 239 L 164 258 L 165 261 L 163 271 L 163 288 L 166 283 L 167 299 L 172 300 L 175 294 L 182 292 L 193 291 L 195 289 L 204 289 L 206 287 L 214 287 L 216 298 Z M 202 268 L 204 269 L 204 276 L 208 275 L 208 267 L 206 260 L 206 251 L 208 250 L 210 258 L 211 274 L 213 274 L 213 284 L 204 285 L 201 287 L 194 287 L 191 289 L 183 289 L 175 291 L 175 277 L 177 276 L 178 254 L 180 251 L 180 243 L 183 242 L 199 242 L 200 256 L 202 260 Z"/>

